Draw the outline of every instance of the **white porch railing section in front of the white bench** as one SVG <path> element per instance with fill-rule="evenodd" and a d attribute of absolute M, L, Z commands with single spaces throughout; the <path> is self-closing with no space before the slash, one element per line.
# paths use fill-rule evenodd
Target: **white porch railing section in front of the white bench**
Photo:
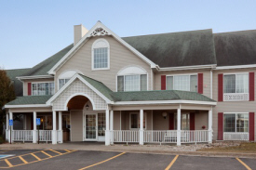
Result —
<path fill-rule="evenodd" d="M 177 131 L 176 130 L 145 130 L 144 133 L 145 143 L 176 143 Z"/>

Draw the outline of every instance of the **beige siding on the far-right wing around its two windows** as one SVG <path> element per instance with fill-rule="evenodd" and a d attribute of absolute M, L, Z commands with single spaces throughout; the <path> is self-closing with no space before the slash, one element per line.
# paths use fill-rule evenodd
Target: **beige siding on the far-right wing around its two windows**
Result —
<path fill-rule="evenodd" d="M 213 72 L 213 88 L 212 97 L 218 101 L 218 74 L 219 73 L 239 73 L 239 72 L 255 72 L 255 69 L 236 69 L 236 70 L 223 70 Z M 256 92 L 256 79 L 254 78 L 254 87 Z M 256 99 L 256 98 L 255 98 Z M 217 102 L 217 106 L 212 111 L 212 127 L 213 139 L 218 137 L 218 112 L 256 112 L 256 101 L 222 101 Z M 255 131 L 256 136 L 256 131 Z"/>

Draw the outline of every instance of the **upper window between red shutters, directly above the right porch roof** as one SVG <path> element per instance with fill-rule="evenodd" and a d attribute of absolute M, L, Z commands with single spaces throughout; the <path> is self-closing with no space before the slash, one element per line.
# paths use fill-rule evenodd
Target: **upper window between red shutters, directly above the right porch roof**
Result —
<path fill-rule="evenodd" d="M 197 92 L 197 74 L 167 76 L 167 90 Z"/>

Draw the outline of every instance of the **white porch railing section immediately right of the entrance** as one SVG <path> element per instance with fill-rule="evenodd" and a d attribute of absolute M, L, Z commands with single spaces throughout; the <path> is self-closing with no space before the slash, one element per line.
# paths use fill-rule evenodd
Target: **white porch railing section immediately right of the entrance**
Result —
<path fill-rule="evenodd" d="M 112 130 L 110 131 L 113 142 L 138 143 L 139 130 Z"/>

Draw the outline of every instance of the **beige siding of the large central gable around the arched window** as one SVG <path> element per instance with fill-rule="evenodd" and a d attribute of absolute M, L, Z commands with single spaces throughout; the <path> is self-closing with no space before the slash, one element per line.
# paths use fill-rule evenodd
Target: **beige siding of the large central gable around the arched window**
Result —
<path fill-rule="evenodd" d="M 93 42 L 99 38 L 106 39 L 110 44 L 110 70 L 92 71 L 91 69 L 91 46 Z M 121 45 L 112 36 L 91 37 L 84 46 L 79 48 L 74 56 L 69 59 L 60 70 L 56 72 L 55 76 L 55 89 L 57 90 L 58 77 L 61 72 L 67 70 L 79 70 L 86 76 L 101 81 L 107 85 L 111 90 L 116 91 L 116 74 L 121 69 L 128 66 L 140 66 L 148 72 L 148 89 L 151 86 L 151 67 L 148 63 L 140 59 L 134 53 L 128 50 L 127 47 Z"/>

